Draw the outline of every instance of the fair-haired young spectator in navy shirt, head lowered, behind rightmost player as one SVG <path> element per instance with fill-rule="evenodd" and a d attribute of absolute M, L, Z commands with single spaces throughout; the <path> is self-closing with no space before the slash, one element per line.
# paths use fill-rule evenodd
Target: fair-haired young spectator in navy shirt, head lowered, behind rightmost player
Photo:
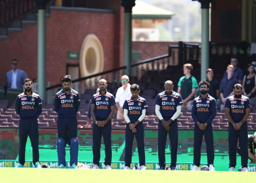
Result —
<path fill-rule="evenodd" d="M 220 82 L 220 97 L 221 97 L 220 112 L 221 113 L 225 112 L 225 108 L 224 108 L 225 102 L 228 97 L 234 94 L 233 88 L 235 84 L 238 83 L 238 80 L 235 77 L 233 77 L 233 73 L 234 73 L 233 65 L 228 65 L 226 72 L 228 74 L 228 77 L 223 78 Z"/>

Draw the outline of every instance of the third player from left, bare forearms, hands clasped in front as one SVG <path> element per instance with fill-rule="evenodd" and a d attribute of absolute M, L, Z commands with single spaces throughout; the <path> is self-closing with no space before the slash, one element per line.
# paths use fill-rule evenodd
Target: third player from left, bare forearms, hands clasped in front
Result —
<path fill-rule="evenodd" d="M 107 91 L 107 81 L 100 79 L 100 92 L 94 94 L 91 99 L 92 125 L 92 169 L 100 168 L 100 144 L 103 136 L 105 146 L 105 169 L 111 169 L 111 118 L 115 114 L 115 97 Z"/>

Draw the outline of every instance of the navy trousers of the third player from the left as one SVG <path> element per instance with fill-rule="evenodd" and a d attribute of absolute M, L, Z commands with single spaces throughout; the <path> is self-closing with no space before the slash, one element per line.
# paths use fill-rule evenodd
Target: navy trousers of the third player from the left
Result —
<path fill-rule="evenodd" d="M 112 149 L 111 149 L 111 120 L 104 127 L 99 127 L 95 123 L 92 125 L 92 154 L 93 164 L 100 166 L 100 145 L 103 136 L 105 146 L 105 165 L 111 165 Z"/>

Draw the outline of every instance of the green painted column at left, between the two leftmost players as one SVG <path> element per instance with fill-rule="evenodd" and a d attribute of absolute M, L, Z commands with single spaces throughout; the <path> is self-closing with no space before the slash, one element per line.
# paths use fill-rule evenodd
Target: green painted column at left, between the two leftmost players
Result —
<path fill-rule="evenodd" d="M 37 80 L 38 80 L 38 94 L 40 95 L 41 99 L 46 99 L 45 96 L 45 88 L 46 88 L 46 81 L 45 81 L 45 9 L 38 10 L 38 42 L 37 42 Z"/>

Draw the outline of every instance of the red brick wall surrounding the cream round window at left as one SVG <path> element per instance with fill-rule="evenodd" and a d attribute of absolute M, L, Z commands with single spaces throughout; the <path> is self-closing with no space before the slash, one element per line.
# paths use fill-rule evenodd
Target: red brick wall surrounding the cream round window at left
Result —
<path fill-rule="evenodd" d="M 51 17 L 46 18 L 46 82 L 59 84 L 66 74 L 66 65 L 79 63 L 68 60 L 67 51 L 80 51 L 84 38 L 90 33 L 98 36 L 103 46 L 104 70 L 116 67 L 117 60 L 123 61 L 123 56 L 115 58 L 115 49 L 123 49 L 122 41 L 116 41 L 119 31 L 115 30 L 115 21 L 114 13 L 51 11 Z M 20 61 L 19 68 L 25 70 L 29 78 L 37 78 L 37 25 L 25 25 L 21 33 L 9 33 L 8 40 L 0 40 L 0 55 L 0 76 L 4 78 L 0 85 L 6 84 L 6 72 L 11 70 L 13 58 Z"/>

